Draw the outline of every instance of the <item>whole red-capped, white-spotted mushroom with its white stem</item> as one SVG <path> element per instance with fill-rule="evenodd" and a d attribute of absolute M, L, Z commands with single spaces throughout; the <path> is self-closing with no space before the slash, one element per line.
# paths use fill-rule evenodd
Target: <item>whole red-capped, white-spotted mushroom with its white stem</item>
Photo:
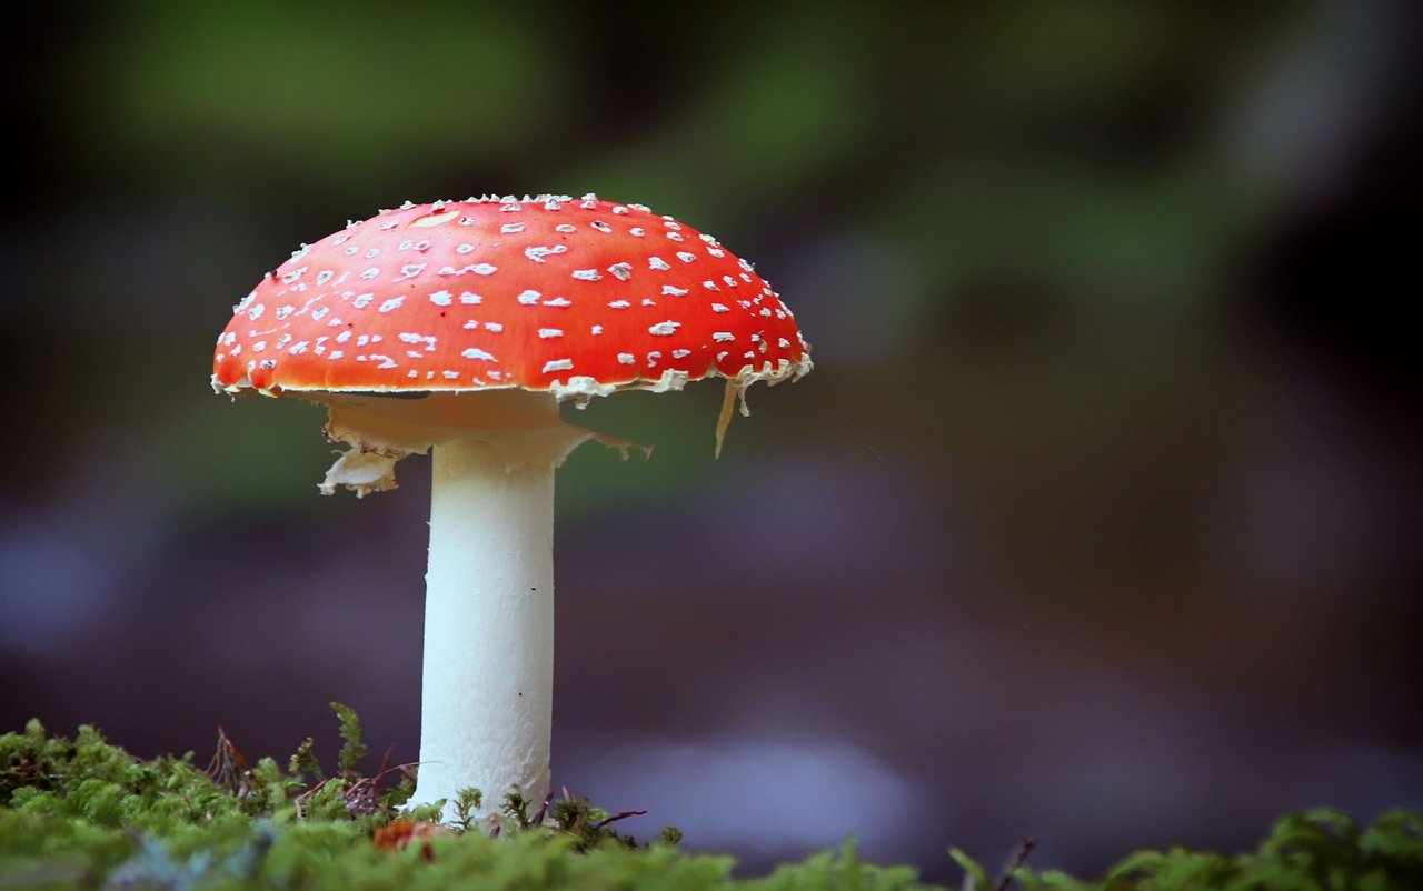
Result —
<path fill-rule="evenodd" d="M 391 489 L 433 452 L 414 803 L 478 787 L 484 814 L 549 786 L 559 419 L 619 389 L 726 379 L 716 445 L 756 381 L 811 369 L 771 287 L 709 234 L 642 205 L 485 196 L 406 203 L 303 244 L 236 307 L 212 385 L 326 406 L 349 443 L 320 485 Z"/>

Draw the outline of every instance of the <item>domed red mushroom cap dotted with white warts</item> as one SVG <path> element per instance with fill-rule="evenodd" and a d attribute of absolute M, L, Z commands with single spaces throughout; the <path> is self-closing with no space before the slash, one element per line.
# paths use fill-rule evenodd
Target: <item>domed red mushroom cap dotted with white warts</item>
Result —
<path fill-rule="evenodd" d="M 235 308 L 213 387 L 586 399 L 811 369 L 791 311 L 716 239 L 593 196 L 404 205 L 303 246 Z"/>

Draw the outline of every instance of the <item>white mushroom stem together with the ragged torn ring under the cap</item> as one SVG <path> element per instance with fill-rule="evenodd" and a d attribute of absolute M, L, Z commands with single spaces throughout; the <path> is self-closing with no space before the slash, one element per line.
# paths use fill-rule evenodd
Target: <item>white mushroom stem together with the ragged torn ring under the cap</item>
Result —
<path fill-rule="evenodd" d="M 390 399 L 322 394 L 327 436 L 351 443 L 322 483 L 396 485 L 396 462 L 433 453 L 420 769 L 413 804 L 478 789 L 485 828 L 518 786 L 549 789 L 554 712 L 554 469 L 595 438 L 551 394 L 518 389 Z"/>

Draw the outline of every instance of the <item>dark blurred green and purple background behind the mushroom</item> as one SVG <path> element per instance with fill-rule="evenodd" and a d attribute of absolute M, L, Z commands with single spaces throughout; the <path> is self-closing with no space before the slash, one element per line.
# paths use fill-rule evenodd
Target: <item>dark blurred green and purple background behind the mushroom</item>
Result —
<path fill-rule="evenodd" d="M 414 760 L 428 463 L 316 493 L 231 307 L 379 207 L 596 192 L 814 345 L 559 476 L 555 786 L 956 881 L 1423 804 L 1419 7 L 43 4 L 6 33 L 0 729 Z"/>

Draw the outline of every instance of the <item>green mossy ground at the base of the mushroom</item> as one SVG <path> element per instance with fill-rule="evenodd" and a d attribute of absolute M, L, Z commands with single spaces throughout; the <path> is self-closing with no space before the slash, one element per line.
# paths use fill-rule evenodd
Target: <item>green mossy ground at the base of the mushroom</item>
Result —
<path fill-rule="evenodd" d="M 915 890 L 911 867 L 862 861 L 852 844 L 758 878 L 724 855 L 684 854 L 676 830 L 646 844 L 616 831 L 625 814 L 585 800 L 505 797 L 499 837 L 438 826 L 403 807 L 413 772 L 366 756 L 356 715 L 334 706 L 344 740 L 332 776 L 307 739 L 282 766 L 248 765 L 219 732 L 206 770 L 192 755 L 138 760 L 92 728 L 74 739 L 38 722 L 0 736 L 0 888 L 388 890 L 667 888 L 677 891 Z M 472 796 L 472 793 L 470 793 Z M 472 799 L 465 797 L 465 804 Z M 1022 851 L 1026 855 L 1026 847 Z M 1138 851 L 1099 880 L 1009 864 L 990 874 L 961 851 L 965 887 L 1027 890 L 1423 890 L 1423 811 L 1356 826 L 1329 810 L 1286 814 L 1248 854 Z M 1022 857 L 1019 858 L 1022 860 Z"/>

